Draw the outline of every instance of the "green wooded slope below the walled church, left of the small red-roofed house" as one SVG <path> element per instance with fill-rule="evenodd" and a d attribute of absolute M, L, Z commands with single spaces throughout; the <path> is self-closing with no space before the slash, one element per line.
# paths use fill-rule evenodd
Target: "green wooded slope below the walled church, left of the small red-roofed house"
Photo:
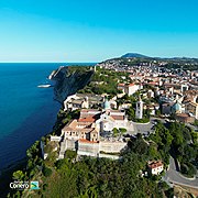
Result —
<path fill-rule="evenodd" d="M 140 136 L 136 144 L 144 143 Z M 29 151 L 29 165 L 25 172 L 14 173 L 15 179 L 40 182 L 40 190 L 18 191 L 14 196 L 32 197 L 162 197 L 172 190 L 156 178 L 142 177 L 146 167 L 143 153 L 130 146 L 120 161 L 81 157 L 68 151 L 66 158 L 56 162 L 52 157 L 41 160 L 37 142 Z M 37 156 L 33 157 L 35 152 Z M 53 151 L 52 151 L 53 153 Z M 32 158 L 33 157 L 33 158 Z M 37 160 L 35 160 L 37 158 Z M 34 164 L 34 166 L 32 166 Z M 42 166 L 42 168 L 40 168 Z"/>

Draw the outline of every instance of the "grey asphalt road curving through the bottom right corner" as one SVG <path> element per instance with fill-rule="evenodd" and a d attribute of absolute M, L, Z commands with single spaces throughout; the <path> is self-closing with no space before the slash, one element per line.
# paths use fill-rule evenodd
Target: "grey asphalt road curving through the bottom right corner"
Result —
<path fill-rule="evenodd" d="M 190 179 L 190 178 L 184 177 L 179 172 L 176 170 L 175 162 L 172 156 L 169 158 L 169 168 L 166 172 L 164 180 L 172 184 L 184 185 L 184 186 L 198 189 L 198 178 Z"/>

